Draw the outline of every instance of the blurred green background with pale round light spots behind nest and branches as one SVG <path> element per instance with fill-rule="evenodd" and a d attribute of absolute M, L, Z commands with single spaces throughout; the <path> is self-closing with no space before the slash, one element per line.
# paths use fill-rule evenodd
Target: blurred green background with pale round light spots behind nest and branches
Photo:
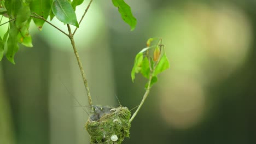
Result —
<path fill-rule="evenodd" d="M 110 1 L 95 1 L 75 35 L 94 104 L 118 106 L 116 95 L 129 109 L 146 83 L 139 75 L 132 83 L 133 59 L 148 38 L 163 39 L 171 68 L 124 143 L 256 143 L 256 1 L 126 2 L 135 31 Z M 88 114 L 74 97 L 88 102 L 69 39 L 47 23 L 31 33 L 33 47 L 20 47 L 16 65 L 0 62 L 0 143 L 89 143 Z"/>

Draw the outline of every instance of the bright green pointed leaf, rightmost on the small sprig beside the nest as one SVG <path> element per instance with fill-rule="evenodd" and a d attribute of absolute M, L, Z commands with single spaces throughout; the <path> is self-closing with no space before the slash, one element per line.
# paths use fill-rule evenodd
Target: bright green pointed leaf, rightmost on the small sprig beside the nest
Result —
<path fill-rule="evenodd" d="M 162 55 L 158 65 L 156 65 L 153 75 L 156 76 L 168 68 L 170 68 L 170 63 L 169 63 L 166 53 L 164 51 L 164 55 Z"/>

